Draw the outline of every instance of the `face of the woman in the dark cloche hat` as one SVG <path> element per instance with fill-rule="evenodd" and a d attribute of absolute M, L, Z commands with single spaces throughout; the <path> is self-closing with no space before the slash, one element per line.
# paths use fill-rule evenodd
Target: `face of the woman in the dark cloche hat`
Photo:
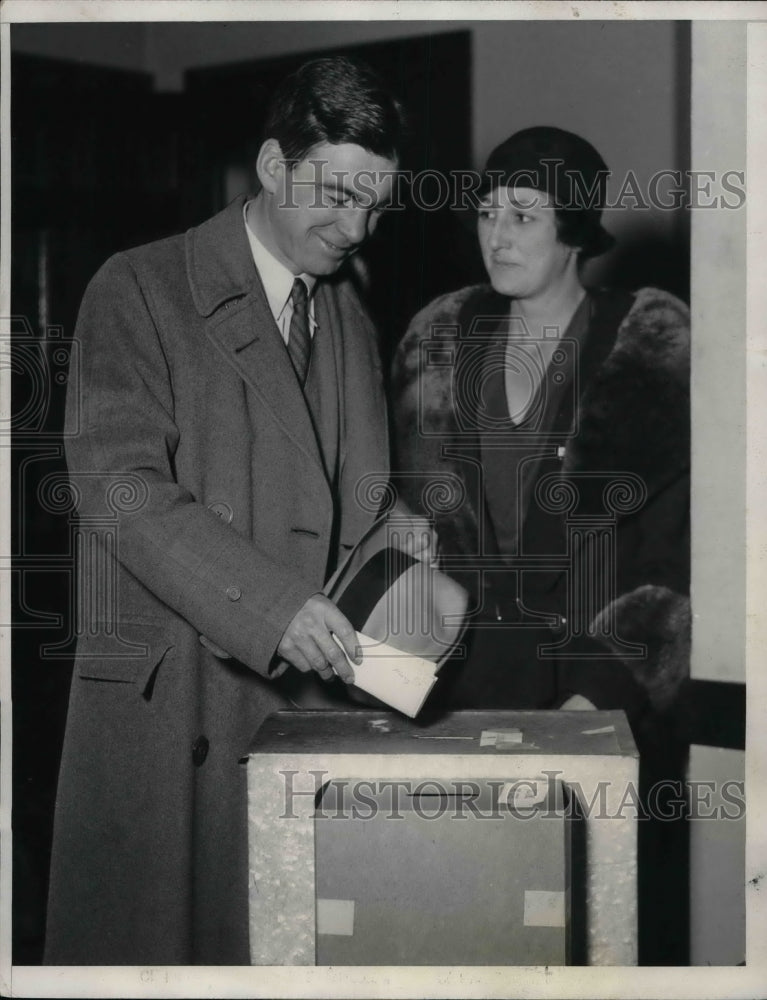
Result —
<path fill-rule="evenodd" d="M 477 231 L 490 282 L 502 295 L 545 296 L 575 268 L 575 251 L 560 242 L 544 191 L 495 188 L 480 203 Z"/>

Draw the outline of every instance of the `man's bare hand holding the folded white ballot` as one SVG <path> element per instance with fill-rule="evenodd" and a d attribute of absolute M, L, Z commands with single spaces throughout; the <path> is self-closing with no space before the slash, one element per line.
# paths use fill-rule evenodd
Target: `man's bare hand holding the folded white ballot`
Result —
<path fill-rule="evenodd" d="M 361 663 L 357 633 L 349 620 L 324 594 L 313 594 L 285 629 L 277 654 L 302 673 L 315 670 L 324 681 L 337 674 L 346 684 L 353 684 L 354 671 L 334 635 L 349 658 L 354 663 Z"/>

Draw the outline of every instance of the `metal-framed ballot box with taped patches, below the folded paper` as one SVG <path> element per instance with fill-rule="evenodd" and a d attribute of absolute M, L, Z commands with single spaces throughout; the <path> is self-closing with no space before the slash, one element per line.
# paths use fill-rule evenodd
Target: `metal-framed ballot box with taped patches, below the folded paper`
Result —
<path fill-rule="evenodd" d="M 280 712 L 247 778 L 253 964 L 636 963 L 621 712 Z"/>

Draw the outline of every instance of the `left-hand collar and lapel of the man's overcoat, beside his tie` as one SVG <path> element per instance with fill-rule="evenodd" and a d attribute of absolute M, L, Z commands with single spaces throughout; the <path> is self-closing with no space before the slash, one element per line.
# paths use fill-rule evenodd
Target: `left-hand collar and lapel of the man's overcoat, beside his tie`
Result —
<path fill-rule="evenodd" d="M 187 233 L 194 304 L 207 336 L 327 482 L 303 392 L 253 264 L 244 201 Z"/>

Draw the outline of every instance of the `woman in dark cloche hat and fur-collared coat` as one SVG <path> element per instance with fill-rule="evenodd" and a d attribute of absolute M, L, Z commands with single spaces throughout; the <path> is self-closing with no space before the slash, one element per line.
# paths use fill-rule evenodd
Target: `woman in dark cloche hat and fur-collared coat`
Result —
<path fill-rule="evenodd" d="M 584 288 L 581 263 L 614 242 L 607 176 L 561 129 L 498 146 L 477 220 L 489 285 L 432 302 L 396 356 L 407 499 L 475 597 L 468 659 L 443 684 L 455 707 L 641 722 L 686 672 L 688 311 Z"/>

